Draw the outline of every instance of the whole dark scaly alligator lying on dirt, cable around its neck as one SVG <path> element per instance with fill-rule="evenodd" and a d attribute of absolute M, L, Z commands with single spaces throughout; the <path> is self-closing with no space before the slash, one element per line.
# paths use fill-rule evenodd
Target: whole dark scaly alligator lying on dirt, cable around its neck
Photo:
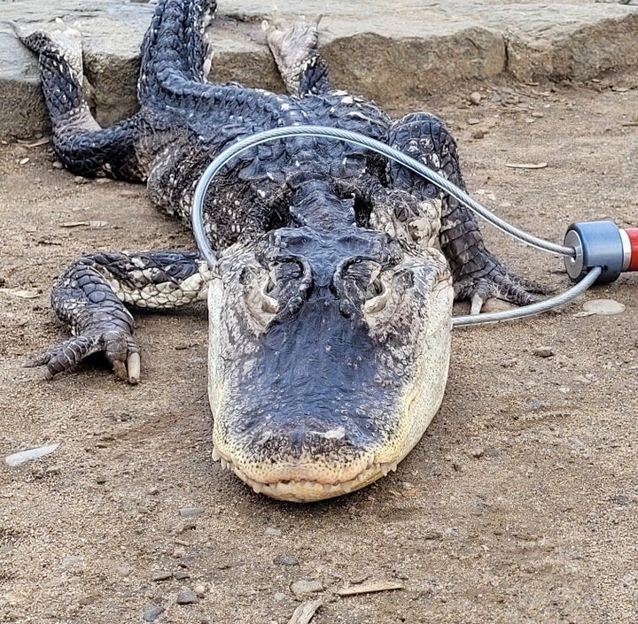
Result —
<path fill-rule="evenodd" d="M 194 189 L 224 148 L 273 127 L 351 130 L 465 188 L 455 140 L 428 112 L 391 119 L 331 87 L 317 23 L 265 22 L 285 93 L 209 81 L 211 0 L 160 0 L 141 50 L 139 110 L 101 128 L 82 95 L 79 34 L 20 34 L 39 58 L 52 140 L 68 170 L 145 182 L 191 223 Z M 297 136 L 255 145 L 216 178 L 197 251 L 86 253 L 51 303 L 72 336 L 28 363 L 52 376 L 103 353 L 140 379 L 129 308 L 206 299 L 213 458 L 269 497 L 314 501 L 396 469 L 438 411 L 454 299 L 541 298 L 486 249 L 476 220 L 430 182 L 358 146 Z"/>

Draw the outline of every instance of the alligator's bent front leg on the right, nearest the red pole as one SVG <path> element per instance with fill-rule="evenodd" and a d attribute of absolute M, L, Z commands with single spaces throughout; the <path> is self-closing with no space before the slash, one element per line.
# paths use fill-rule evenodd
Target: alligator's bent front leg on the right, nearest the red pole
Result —
<path fill-rule="evenodd" d="M 465 189 L 455 141 L 440 119 L 425 112 L 406 115 L 393 123 L 388 143 Z M 388 178 L 394 189 L 408 190 L 422 199 L 440 198 L 440 247 L 452 271 L 455 296 L 471 299 L 471 313 L 480 312 L 489 297 L 526 305 L 548 294 L 541 284 L 511 273 L 486 249 L 473 214 L 454 197 L 393 162 L 388 164 Z"/>

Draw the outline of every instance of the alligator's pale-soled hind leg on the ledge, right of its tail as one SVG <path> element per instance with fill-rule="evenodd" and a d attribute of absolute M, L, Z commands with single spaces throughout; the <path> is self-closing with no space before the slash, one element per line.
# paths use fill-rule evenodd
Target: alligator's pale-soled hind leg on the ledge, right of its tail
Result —
<path fill-rule="evenodd" d="M 305 18 L 287 27 L 275 13 L 262 23 L 268 48 L 288 93 L 292 96 L 327 93 L 331 90 L 328 65 L 317 48 L 317 27 L 321 16 L 313 22 Z"/>

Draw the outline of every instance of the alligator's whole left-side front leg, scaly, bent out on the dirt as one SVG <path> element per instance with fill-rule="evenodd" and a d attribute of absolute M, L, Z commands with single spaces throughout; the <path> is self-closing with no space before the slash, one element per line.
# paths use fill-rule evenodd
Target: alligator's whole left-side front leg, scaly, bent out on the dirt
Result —
<path fill-rule="evenodd" d="M 42 351 L 26 366 L 46 366 L 45 376 L 102 352 L 118 379 L 137 383 L 139 346 L 124 304 L 173 310 L 206 297 L 210 273 L 189 251 L 92 253 L 77 258 L 53 286 L 51 304 L 72 338 Z"/>

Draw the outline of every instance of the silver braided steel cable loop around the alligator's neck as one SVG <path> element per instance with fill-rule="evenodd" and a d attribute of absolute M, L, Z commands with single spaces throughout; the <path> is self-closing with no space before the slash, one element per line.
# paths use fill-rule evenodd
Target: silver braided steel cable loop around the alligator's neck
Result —
<path fill-rule="evenodd" d="M 359 133 L 352 132 L 350 130 L 342 130 L 336 127 L 285 126 L 271 128 L 257 133 L 256 135 L 246 136 L 244 139 L 237 141 L 237 143 L 233 143 L 230 147 L 222 150 L 222 152 L 220 152 L 213 161 L 206 166 L 204 173 L 202 173 L 199 178 L 192 198 L 191 221 L 195 243 L 197 243 L 199 252 L 206 259 L 206 262 L 211 268 L 214 268 L 217 264 L 217 257 L 208 242 L 206 230 L 204 228 L 204 197 L 206 196 L 206 191 L 208 190 L 211 181 L 213 181 L 215 175 L 217 175 L 224 166 L 228 165 L 231 160 L 236 158 L 242 152 L 250 150 L 262 143 L 268 143 L 288 136 L 314 136 L 315 138 L 338 139 L 367 150 L 376 151 L 378 154 L 381 154 L 386 158 L 390 158 L 402 166 L 408 167 L 408 169 L 413 173 L 416 173 L 417 175 L 424 177 L 425 180 L 432 182 L 432 184 L 435 184 L 440 189 L 444 190 L 448 195 L 455 197 L 455 199 L 461 204 L 465 205 L 472 212 L 476 212 L 478 216 L 482 217 L 505 234 L 513 236 L 519 241 L 536 247 L 537 249 L 549 251 L 549 253 L 554 253 L 559 256 L 574 258 L 576 255 L 576 252 L 572 247 L 565 247 L 564 245 L 551 243 L 550 241 L 546 241 L 538 236 L 528 234 L 518 227 L 512 226 L 507 221 L 497 217 L 494 212 L 491 212 L 485 206 L 472 199 L 471 196 L 465 193 L 462 189 L 459 189 L 455 186 L 455 184 L 448 181 L 439 173 L 432 171 L 432 169 L 428 166 L 425 166 L 415 158 L 408 156 L 408 154 L 404 154 L 402 151 L 396 150 L 390 145 L 381 143 L 380 141 L 377 141 L 377 139 L 372 139 L 369 136 L 360 135 Z M 486 312 L 485 314 L 455 317 L 453 320 L 453 326 L 464 327 L 467 325 L 477 325 L 479 323 L 496 322 L 498 320 L 519 319 L 524 316 L 547 312 L 554 307 L 572 301 L 573 298 L 578 297 L 580 294 L 585 292 L 585 290 L 594 283 L 601 271 L 602 269 L 600 267 L 593 268 L 578 284 L 556 297 L 551 297 L 550 299 L 546 299 L 537 304 L 525 305 L 522 308 L 516 308 L 514 310 Z"/>

